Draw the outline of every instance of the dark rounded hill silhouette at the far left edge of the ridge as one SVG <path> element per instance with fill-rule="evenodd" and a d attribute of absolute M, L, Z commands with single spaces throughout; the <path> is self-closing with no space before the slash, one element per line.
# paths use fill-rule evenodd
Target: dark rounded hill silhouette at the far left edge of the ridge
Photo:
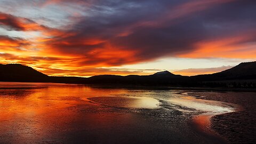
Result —
<path fill-rule="evenodd" d="M 20 64 L 0 64 L 0 81 L 7 82 L 43 82 L 48 76 Z"/>

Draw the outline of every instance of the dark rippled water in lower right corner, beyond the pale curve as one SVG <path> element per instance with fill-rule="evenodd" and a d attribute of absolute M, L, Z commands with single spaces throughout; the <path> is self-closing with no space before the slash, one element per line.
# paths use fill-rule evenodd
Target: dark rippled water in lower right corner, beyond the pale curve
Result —
<path fill-rule="evenodd" d="M 225 94 L 229 93 L 229 94 Z M 256 138 L 256 106 L 254 92 L 191 92 L 199 99 L 216 100 L 234 103 L 241 106 L 233 113 L 211 117 L 211 129 L 220 134 L 228 143 L 254 143 Z M 244 98 L 244 95 L 246 98 Z"/>

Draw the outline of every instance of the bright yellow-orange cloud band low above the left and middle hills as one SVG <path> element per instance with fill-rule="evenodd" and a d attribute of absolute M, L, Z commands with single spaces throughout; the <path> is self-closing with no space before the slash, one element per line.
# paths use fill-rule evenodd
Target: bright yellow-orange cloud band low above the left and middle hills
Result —
<path fill-rule="evenodd" d="M 50 76 L 81 76 L 90 77 L 93 75 L 146 75 L 143 69 L 111 69 L 97 68 L 94 65 L 81 65 L 83 59 L 68 59 L 63 57 L 18 57 L 14 54 L 0 53 L 1 63 L 21 63 L 41 71 Z M 100 66 L 103 66 L 102 63 Z"/>

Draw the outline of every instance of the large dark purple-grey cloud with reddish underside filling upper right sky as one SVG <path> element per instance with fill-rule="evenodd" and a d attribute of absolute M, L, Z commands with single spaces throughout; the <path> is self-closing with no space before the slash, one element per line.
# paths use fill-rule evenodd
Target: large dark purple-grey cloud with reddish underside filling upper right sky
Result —
<path fill-rule="evenodd" d="M 190 8 L 190 9 L 187 9 Z M 191 10 L 192 9 L 192 10 Z M 255 42 L 255 1 L 97 1 L 92 15 L 50 41 L 52 49 L 83 55 L 84 64 L 122 65 L 189 53 L 199 42 L 251 35 L 238 44 Z M 98 42 L 92 42 L 98 41 Z M 218 40 L 219 41 L 219 40 Z M 88 43 L 86 43 L 88 42 Z M 91 43 L 90 43 L 91 42 Z M 234 42 L 233 44 L 237 44 Z M 111 49 L 110 49 L 111 47 Z M 97 58 L 94 51 L 134 51 L 129 58 Z"/>

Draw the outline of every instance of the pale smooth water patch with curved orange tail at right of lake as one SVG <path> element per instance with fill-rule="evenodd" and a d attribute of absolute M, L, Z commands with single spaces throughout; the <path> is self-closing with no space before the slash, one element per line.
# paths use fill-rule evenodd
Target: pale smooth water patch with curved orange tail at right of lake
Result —
<path fill-rule="evenodd" d="M 196 99 L 191 95 L 189 96 L 187 92 L 177 94 L 176 97 L 170 98 L 169 102 L 198 110 L 199 115 L 194 116 L 191 122 L 197 131 L 207 133 L 212 139 L 219 138 L 219 135 L 211 129 L 211 118 L 215 115 L 234 112 L 238 107 L 233 103 Z M 219 142 L 225 141 L 220 139 Z"/>

